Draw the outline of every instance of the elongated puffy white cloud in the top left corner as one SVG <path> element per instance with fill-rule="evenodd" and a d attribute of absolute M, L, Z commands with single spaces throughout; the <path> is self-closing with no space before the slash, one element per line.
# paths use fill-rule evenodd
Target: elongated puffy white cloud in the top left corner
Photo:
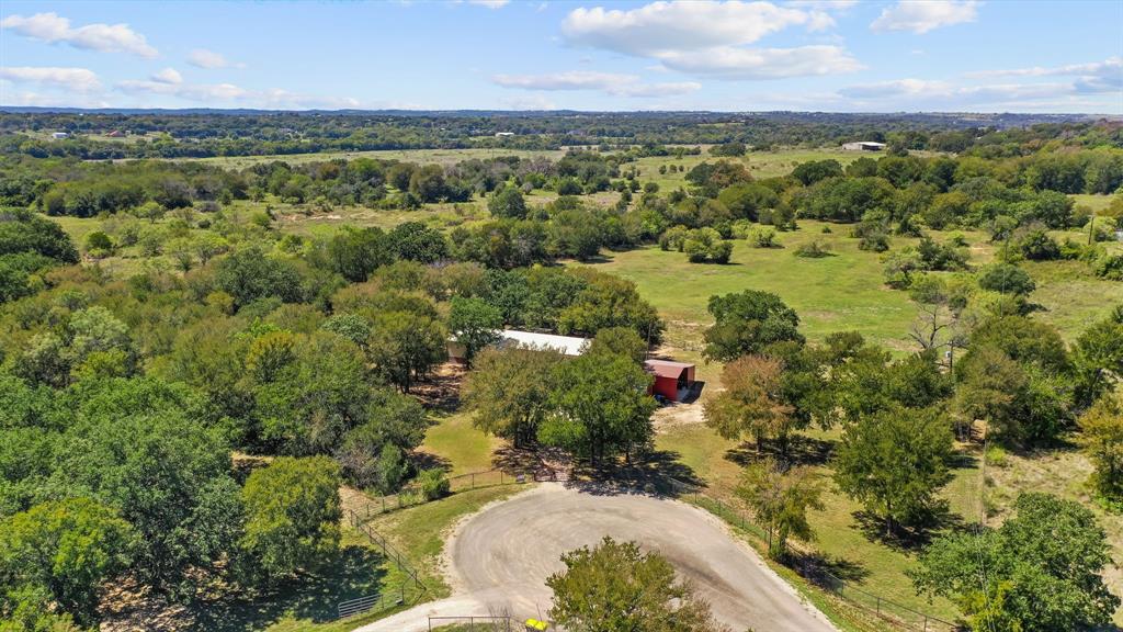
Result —
<path fill-rule="evenodd" d="M 106 53 L 129 53 L 140 57 L 155 57 L 159 53 L 144 35 L 127 24 L 90 24 L 71 28 L 70 20 L 57 13 L 35 13 L 30 17 L 8 16 L 0 20 L 0 28 L 13 30 L 25 37 L 48 43 L 70 44 L 75 48 Z"/>

